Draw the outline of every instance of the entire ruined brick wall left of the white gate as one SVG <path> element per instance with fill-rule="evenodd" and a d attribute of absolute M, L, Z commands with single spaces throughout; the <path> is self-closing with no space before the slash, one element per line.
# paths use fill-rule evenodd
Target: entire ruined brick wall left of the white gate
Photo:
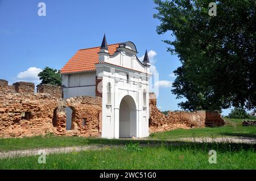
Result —
<path fill-rule="evenodd" d="M 13 86 L 0 80 L 0 137 L 23 137 L 52 133 L 66 136 L 101 136 L 101 98 L 60 98 L 61 87 L 46 85 L 35 94 L 34 84 Z M 66 130 L 65 108 L 72 109 L 72 128 Z"/>

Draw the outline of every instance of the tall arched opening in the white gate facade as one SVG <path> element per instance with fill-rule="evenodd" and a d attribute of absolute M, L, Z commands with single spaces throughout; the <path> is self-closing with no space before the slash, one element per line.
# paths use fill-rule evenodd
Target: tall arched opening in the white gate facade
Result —
<path fill-rule="evenodd" d="M 119 106 L 119 138 L 133 136 L 137 136 L 136 104 L 130 95 L 126 95 Z"/>

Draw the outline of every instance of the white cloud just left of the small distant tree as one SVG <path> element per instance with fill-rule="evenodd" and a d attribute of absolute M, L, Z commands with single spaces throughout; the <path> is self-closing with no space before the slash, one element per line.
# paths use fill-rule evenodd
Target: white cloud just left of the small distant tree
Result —
<path fill-rule="evenodd" d="M 26 71 L 18 73 L 16 81 L 34 82 L 35 85 L 38 85 L 41 82 L 38 77 L 40 71 L 43 70 L 35 67 L 28 68 Z"/>

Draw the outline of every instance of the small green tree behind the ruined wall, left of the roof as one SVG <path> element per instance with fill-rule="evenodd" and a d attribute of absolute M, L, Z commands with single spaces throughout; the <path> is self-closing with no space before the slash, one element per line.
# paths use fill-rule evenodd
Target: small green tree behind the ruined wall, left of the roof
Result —
<path fill-rule="evenodd" d="M 38 74 L 38 77 L 40 78 L 40 80 L 42 80 L 42 83 L 49 83 L 59 86 L 61 85 L 60 71 L 56 69 L 51 69 L 48 66 Z"/>

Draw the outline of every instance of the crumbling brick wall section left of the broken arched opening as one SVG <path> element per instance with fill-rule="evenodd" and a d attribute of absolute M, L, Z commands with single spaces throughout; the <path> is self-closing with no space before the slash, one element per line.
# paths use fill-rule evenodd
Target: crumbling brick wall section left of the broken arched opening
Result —
<path fill-rule="evenodd" d="M 0 94 L 0 137 L 53 133 L 52 112 L 57 100 L 32 94 Z"/>

